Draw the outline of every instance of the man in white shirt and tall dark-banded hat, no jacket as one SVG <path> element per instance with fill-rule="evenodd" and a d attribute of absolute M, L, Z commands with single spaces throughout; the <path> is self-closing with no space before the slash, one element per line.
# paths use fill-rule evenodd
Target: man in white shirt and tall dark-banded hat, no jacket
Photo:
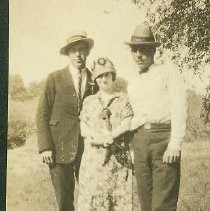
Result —
<path fill-rule="evenodd" d="M 134 111 L 131 130 L 141 211 L 175 211 L 180 183 L 181 143 L 186 129 L 186 93 L 176 68 L 155 64 L 160 43 L 138 25 L 131 41 L 138 76 L 128 87 Z"/>

